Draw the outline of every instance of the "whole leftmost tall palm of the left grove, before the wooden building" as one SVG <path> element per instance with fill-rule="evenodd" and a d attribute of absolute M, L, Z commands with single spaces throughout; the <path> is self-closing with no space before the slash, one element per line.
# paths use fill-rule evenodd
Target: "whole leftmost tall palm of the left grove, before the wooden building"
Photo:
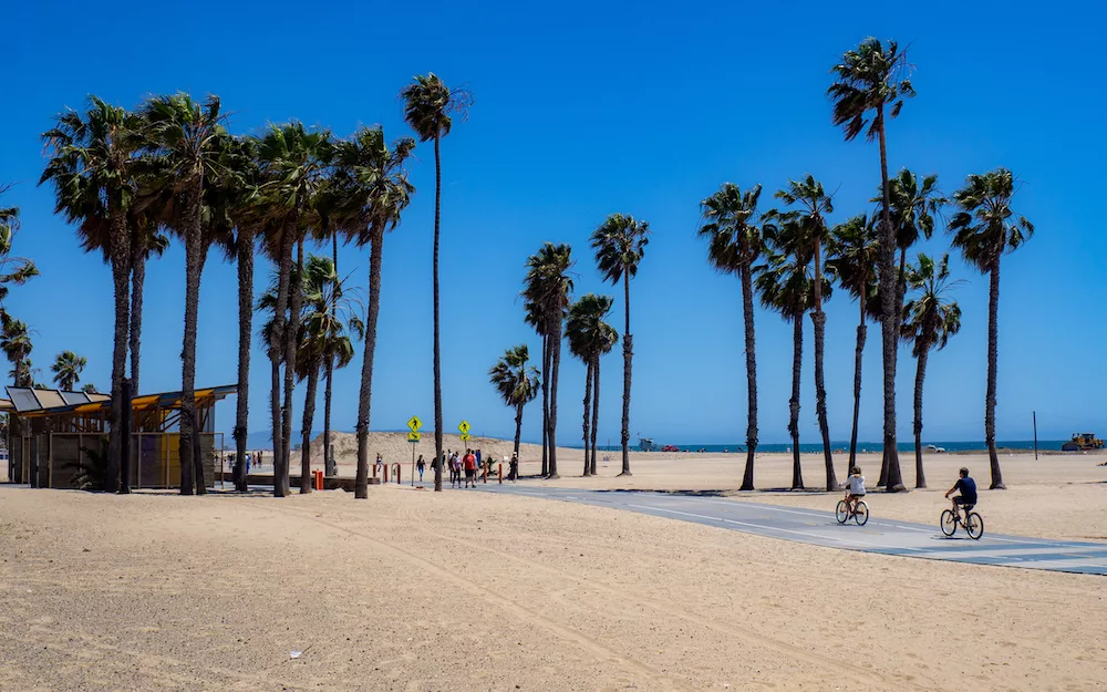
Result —
<path fill-rule="evenodd" d="M 39 184 L 54 186 L 54 210 L 79 225 L 85 249 L 89 239 L 106 237 L 115 298 L 114 347 L 112 350 L 111 433 L 108 477 L 118 487 L 123 464 L 123 378 L 127 361 L 127 328 L 131 301 L 131 231 L 127 211 L 136 192 L 133 172 L 141 145 L 141 118 L 125 109 L 96 96 L 89 97 L 84 114 L 66 111 L 56 116 L 54 127 L 43 133 L 49 161 Z"/>

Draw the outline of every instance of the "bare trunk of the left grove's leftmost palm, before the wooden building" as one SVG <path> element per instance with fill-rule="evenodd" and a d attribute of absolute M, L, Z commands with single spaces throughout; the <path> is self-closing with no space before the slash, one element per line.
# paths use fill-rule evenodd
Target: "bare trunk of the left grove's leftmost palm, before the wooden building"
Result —
<path fill-rule="evenodd" d="M 115 492 L 120 483 L 122 467 L 123 435 L 130 434 L 123 430 L 123 378 L 127 366 L 127 328 L 131 322 L 131 301 L 127 295 L 127 283 L 131 278 L 130 244 L 127 221 L 122 214 L 113 214 L 111 223 L 111 259 L 112 283 L 115 296 L 115 335 L 112 350 L 112 406 L 111 431 L 107 454 L 107 490 Z M 32 484 L 38 478 L 32 478 Z"/>

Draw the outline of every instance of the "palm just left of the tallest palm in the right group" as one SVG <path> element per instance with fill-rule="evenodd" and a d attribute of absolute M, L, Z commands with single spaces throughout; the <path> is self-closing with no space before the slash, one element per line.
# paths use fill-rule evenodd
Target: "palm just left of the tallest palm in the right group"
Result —
<path fill-rule="evenodd" d="M 857 323 L 857 348 L 853 351 L 853 427 L 849 435 L 849 468 L 857 462 L 857 425 L 861 413 L 861 355 L 868 318 L 879 319 L 877 297 L 878 230 L 863 214 L 847 219 L 830 231 L 831 244 L 827 270 L 838 277 L 851 296 L 857 298 L 860 319 Z"/>

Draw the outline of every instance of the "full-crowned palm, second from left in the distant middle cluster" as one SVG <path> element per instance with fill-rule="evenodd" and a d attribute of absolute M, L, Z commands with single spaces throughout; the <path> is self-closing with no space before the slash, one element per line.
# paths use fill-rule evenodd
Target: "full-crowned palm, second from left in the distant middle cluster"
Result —
<path fill-rule="evenodd" d="M 549 358 L 549 412 L 546 420 L 549 465 L 547 477 L 557 478 L 557 383 L 561 370 L 561 333 L 569 295 L 572 292 L 572 249 L 568 245 L 546 242 L 527 260 L 527 278 L 524 283 L 524 299 L 539 310 L 539 319 L 546 335 Z"/>

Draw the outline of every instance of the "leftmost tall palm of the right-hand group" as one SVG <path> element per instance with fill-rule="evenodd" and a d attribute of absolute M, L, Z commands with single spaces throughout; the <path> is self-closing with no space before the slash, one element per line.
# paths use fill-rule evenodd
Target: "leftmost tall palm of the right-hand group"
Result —
<path fill-rule="evenodd" d="M 736 273 L 742 283 L 742 316 L 746 334 L 746 468 L 743 490 L 754 489 L 754 452 L 757 450 L 757 358 L 754 352 L 753 264 L 761 257 L 757 225 L 761 185 L 745 193 L 734 183 L 700 203 L 699 235 L 706 238 L 707 262 L 723 273 Z"/>

